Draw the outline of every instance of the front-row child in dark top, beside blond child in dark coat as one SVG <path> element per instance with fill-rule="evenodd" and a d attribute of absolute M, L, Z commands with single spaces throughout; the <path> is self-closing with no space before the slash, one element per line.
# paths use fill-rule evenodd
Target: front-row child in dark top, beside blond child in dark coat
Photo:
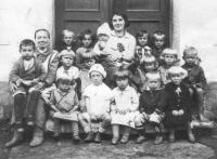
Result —
<path fill-rule="evenodd" d="M 135 118 L 135 124 L 139 132 L 137 143 L 145 141 L 145 124 L 152 124 L 156 130 L 156 138 L 154 144 L 163 141 L 163 123 L 164 112 L 158 108 L 164 102 L 164 89 L 161 87 L 161 76 L 158 72 L 148 72 L 145 75 L 146 88 L 140 95 L 139 111 L 140 115 Z"/>

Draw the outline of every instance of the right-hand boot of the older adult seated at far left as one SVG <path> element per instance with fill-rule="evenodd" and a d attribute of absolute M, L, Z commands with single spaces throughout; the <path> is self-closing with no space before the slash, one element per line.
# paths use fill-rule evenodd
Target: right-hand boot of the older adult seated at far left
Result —
<path fill-rule="evenodd" d="M 33 140 L 29 143 L 30 147 L 39 146 L 43 143 L 43 130 L 39 127 L 36 127 L 34 130 Z"/>

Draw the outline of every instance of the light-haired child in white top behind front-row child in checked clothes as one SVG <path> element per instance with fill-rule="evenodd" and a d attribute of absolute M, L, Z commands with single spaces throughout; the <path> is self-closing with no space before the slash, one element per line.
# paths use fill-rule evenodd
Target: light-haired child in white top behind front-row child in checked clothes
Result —
<path fill-rule="evenodd" d="M 80 94 L 80 78 L 79 78 L 79 69 L 75 66 L 73 66 L 75 62 L 75 53 L 72 50 L 63 50 L 60 53 L 60 61 L 62 63 L 62 66 L 56 70 L 56 74 L 67 74 L 72 79 L 72 85 L 74 85 L 74 89 L 77 92 L 78 98 L 81 97 Z"/>

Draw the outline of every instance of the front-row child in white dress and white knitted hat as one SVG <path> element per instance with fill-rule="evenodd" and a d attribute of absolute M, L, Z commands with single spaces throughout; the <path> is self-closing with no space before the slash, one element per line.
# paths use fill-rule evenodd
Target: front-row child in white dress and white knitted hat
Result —
<path fill-rule="evenodd" d="M 110 104 L 112 101 L 111 89 L 103 83 L 106 71 L 100 64 L 94 64 L 89 70 L 92 84 L 84 92 L 86 111 L 79 117 L 87 137 L 85 142 L 101 142 L 101 134 L 111 122 Z M 99 127 L 95 127 L 99 125 Z"/>

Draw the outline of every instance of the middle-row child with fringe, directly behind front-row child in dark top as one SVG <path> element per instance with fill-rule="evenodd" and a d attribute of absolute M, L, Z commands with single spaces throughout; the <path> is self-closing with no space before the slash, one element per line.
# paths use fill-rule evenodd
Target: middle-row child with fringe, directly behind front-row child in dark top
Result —
<path fill-rule="evenodd" d="M 143 92 L 145 88 L 145 74 L 157 71 L 157 62 L 153 55 L 145 55 L 140 59 L 139 66 L 129 68 L 130 70 L 130 85 L 136 89 L 137 92 Z"/>

